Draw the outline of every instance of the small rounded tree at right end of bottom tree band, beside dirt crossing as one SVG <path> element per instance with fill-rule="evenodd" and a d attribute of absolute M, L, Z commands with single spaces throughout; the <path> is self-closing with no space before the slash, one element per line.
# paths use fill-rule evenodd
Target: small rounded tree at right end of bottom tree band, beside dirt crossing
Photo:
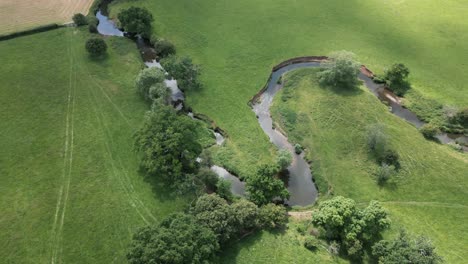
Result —
<path fill-rule="evenodd" d="M 270 203 L 260 207 L 259 226 L 261 228 L 283 228 L 287 222 L 288 214 L 284 206 Z"/>

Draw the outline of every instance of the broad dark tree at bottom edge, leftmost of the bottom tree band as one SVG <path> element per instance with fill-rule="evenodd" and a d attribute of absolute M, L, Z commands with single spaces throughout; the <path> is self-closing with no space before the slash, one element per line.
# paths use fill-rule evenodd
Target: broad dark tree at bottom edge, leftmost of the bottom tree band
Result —
<path fill-rule="evenodd" d="M 141 263 L 207 263 L 219 250 L 215 234 L 188 214 L 173 214 L 161 224 L 140 229 L 127 259 Z"/>

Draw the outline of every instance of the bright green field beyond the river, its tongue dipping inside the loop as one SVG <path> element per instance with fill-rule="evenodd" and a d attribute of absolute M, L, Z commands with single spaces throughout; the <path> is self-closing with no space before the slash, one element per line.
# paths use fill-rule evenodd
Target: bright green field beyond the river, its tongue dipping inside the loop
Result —
<path fill-rule="evenodd" d="M 404 62 L 426 96 L 468 105 L 468 6 L 459 0 L 116 0 L 112 14 L 130 5 L 149 8 L 155 32 L 203 66 L 205 89 L 188 102 L 227 131 L 222 162 L 244 175 L 272 152 L 247 101 L 290 57 L 346 49 L 377 72 Z"/>

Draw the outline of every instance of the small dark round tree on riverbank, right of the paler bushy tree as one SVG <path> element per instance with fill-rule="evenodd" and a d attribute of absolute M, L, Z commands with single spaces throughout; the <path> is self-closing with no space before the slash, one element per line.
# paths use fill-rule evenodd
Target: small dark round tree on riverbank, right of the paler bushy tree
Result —
<path fill-rule="evenodd" d="M 406 80 L 409 75 L 409 69 L 402 63 L 393 64 L 388 70 L 385 71 L 384 79 L 388 88 L 395 94 L 402 96 L 411 87 Z"/>

